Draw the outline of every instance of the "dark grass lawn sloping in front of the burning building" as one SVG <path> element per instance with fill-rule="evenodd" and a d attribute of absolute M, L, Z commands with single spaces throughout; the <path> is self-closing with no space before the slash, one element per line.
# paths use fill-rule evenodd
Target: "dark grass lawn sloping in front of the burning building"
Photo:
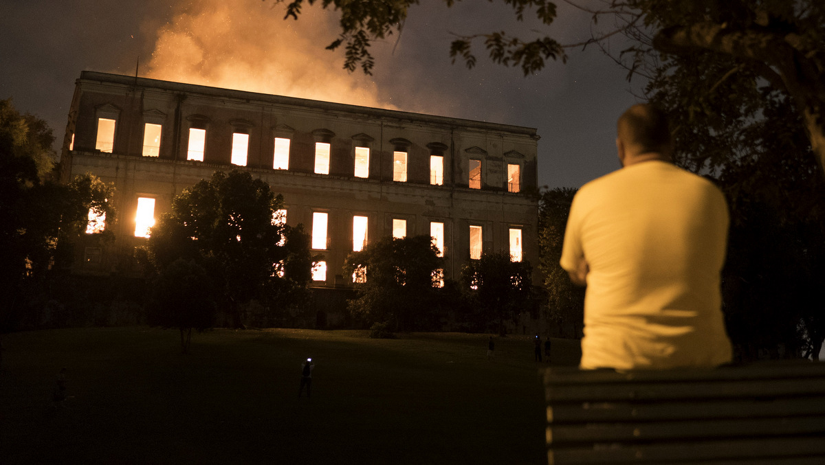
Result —
<path fill-rule="evenodd" d="M 544 464 L 524 336 L 148 327 L 2 336 L 0 463 Z M 554 364 L 577 341 L 553 340 Z M 297 398 L 316 362 L 313 397 Z M 67 369 L 64 408 L 55 375 Z"/>

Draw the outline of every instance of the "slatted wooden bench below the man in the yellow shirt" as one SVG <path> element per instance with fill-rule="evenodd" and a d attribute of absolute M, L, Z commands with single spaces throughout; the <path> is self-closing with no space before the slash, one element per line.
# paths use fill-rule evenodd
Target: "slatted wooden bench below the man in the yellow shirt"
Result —
<path fill-rule="evenodd" d="M 550 465 L 825 464 L 825 364 L 544 370 Z"/>

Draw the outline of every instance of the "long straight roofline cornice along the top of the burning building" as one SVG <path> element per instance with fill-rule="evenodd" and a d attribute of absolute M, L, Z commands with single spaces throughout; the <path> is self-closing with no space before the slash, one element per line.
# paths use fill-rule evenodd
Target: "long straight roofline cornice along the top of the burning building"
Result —
<path fill-rule="evenodd" d="M 97 71 L 82 71 L 80 81 L 111 82 L 130 87 L 148 87 L 162 89 L 171 92 L 186 92 L 189 94 L 200 94 L 204 96 L 218 96 L 233 98 L 242 101 L 259 101 L 262 103 L 303 106 L 316 108 L 318 110 L 342 111 L 345 113 L 360 113 L 378 118 L 392 118 L 394 120 L 412 120 L 430 124 L 441 124 L 455 127 L 471 127 L 476 129 L 505 131 L 508 133 L 526 135 L 535 139 L 540 136 L 536 134 L 535 128 L 526 126 L 516 126 L 512 124 L 488 123 L 486 121 L 463 120 L 460 118 L 450 118 L 448 116 L 425 115 L 422 113 L 412 113 L 400 110 L 385 110 L 383 108 L 373 108 L 370 106 L 357 106 L 345 103 L 335 103 L 331 101 L 318 101 L 290 96 L 278 96 L 264 94 L 260 92 L 238 91 L 225 89 L 222 87 L 200 86 L 197 84 L 186 84 L 184 82 L 162 81 L 148 77 L 125 76 L 123 74 L 100 73 Z"/>

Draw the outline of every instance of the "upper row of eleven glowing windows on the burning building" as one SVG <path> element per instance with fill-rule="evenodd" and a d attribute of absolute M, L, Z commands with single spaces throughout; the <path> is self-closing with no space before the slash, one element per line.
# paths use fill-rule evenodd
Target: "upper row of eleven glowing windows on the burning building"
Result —
<path fill-rule="evenodd" d="M 144 124 L 144 157 L 158 157 L 160 154 L 161 124 Z M 99 118 L 97 120 L 97 141 L 95 148 L 101 152 L 111 153 L 115 142 L 115 120 Z M 186 148 L 186 160 L 204 161 L 206 147 L 206 129 L 190 128 L 189 139 Z M 249 134 L 232 134 L 232 157 L 230 161 L 233 165 L 245 167 L 247 165 L 247 153 L 249 149 Z M 330 144 L 315 143 L 314 172 L 316 174 L 329 174 L 329 154 Z M 393 181 L 407 181 L 407 158 L 406 152 L 393 152 Z M 471 189 L 481 189 L 481 160 L 469 160 L 468 185 Z M 370 148 L 355 148 L 355 176 L 361 178 L 370 177 Z M 272 169 L 290 169 L 290 139 L 275 138 L 275 149 L 272 157 Z M 442 186 L 444 184 L 444 157 L 441 155 L 430 156 L 430 184 Z M 521 166 L 518 164 L 507 164 L 507 191 L 521 191 Z"/>

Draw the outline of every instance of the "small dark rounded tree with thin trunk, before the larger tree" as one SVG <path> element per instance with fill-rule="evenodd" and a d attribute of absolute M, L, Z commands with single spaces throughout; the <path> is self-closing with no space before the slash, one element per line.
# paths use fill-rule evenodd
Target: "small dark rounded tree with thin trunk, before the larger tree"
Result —
<path fill-rule="evenodd" d="M 196 261 L 173 261 L 154 279 L 148 306 L 149 326 L 181 331 L 181 351 L 189 353 L 192 329 L 205 331 L 214 325 L 215 302 L 210 277 Z"/>

